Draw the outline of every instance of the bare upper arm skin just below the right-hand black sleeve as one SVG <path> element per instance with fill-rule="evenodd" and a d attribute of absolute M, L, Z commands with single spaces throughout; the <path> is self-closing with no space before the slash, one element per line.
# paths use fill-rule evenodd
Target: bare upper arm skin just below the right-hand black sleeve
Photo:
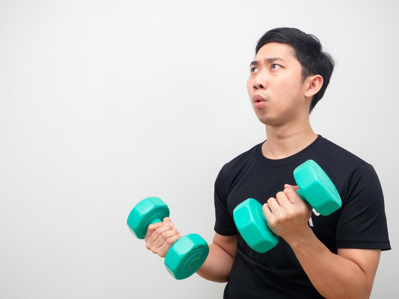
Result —
<path fill-rule="evenodd" d="M 360 248 L 337 248 L 337 254 L 356 263 L 363 270 L 366 281 L 368 295 L 373 287 L 375 273 L 381 255 L 380 249 L 360 249 Z"/>

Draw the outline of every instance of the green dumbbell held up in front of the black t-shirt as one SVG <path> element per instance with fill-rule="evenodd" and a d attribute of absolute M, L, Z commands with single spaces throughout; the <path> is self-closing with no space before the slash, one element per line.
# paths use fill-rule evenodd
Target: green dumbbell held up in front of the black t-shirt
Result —
<path fill-rule="evenodd" d="M 341 207 L 337 189 L 315 161 L 308 160 L 296 167 L 294 178 L 298 195 L 320 214 L 326 216 Z M 233 217 L 241 236 L 253 250 L 267 252 L 279 242 L 279 237 L 267 226 L 262 205 L 257 200 L 249 198 L 237 205 Z"/>

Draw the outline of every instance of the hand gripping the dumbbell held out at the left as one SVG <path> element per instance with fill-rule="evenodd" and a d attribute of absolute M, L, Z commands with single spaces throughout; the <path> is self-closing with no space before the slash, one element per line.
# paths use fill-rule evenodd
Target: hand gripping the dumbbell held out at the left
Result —
<path fill-rule="evenodd" d="M 161 258 L 164 258 L 172 245 L 179 240 L 182 235 L 178 232 L 169 217 L 165 217 L 163 222 L 156 222 L 148 225 L 147 234 L 144 237 L 146 248 Z"/>

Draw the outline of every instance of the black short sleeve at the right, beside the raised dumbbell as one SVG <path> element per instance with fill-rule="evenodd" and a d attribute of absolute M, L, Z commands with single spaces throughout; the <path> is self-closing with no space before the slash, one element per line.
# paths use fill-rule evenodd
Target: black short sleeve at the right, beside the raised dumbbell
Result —
<path fill-rule="evenodd" d="M 342 195 L 336 248 L 390 250 L 384 197 L 374 167 L 367 162 L 356 167 Z"/>

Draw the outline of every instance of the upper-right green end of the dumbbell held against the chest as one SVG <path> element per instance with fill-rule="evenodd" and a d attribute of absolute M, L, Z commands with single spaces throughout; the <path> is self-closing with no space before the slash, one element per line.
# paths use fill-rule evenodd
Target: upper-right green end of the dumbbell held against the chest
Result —
<path fill-rule="evenodd" d="M 313 160 L 308 160 L 294 169 L 294 178 L 299 190 L 296 192 L 323 216 L 338 210 L 341 197 L 328 175 Z"/>

